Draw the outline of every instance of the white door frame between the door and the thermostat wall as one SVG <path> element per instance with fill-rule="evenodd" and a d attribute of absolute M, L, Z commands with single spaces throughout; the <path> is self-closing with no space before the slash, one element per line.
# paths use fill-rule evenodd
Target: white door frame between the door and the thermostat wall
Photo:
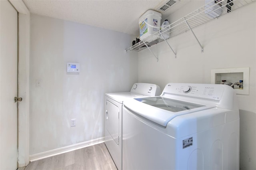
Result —
<path fill-rule="evenodd" d="M 18 115 L 18 168 L 29 163 L 29 59 L 30 59 L 30 12 L 22 0 L 9 0 L 18 11 L 19 55 L 19 102 Z"/>

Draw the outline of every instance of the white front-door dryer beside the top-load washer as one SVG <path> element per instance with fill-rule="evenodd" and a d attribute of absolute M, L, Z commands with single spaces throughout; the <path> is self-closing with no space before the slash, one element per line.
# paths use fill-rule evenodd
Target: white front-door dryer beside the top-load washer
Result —
<path fill-rule="evenodd" d="M 118 170 L 122 169 L 122 105 L 125 99 L 160 95 L 155 84 L 135 83 L 130 92 L 106 93 L 105 144 Z"/>

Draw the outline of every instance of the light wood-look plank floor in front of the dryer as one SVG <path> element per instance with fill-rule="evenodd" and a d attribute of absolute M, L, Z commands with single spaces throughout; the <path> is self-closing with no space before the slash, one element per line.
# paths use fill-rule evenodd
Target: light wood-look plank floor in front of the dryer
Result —
<path fill-rule="evenodd" d="M 25 170 L 117 170 L 104 143 L 30 162 Z"/>

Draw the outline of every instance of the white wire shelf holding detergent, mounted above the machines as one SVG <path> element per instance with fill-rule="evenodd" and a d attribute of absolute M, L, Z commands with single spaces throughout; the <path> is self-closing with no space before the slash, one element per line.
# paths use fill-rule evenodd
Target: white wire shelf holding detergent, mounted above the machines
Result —
<path fill-rule="evenodd" d="M 173 22 L 166 27 L 168 29 L 164 31 L 161 30 L 161 32 L 158 31 L 155 34 L 148 36 L 143 41 L 136 43 L 132 47 L 126 49 L 126 52 L 141 51 L 147 47 L 165 41 L 165 39 L 160 38 L 161 34 L 169 34 L 169 39 L 184 32 L 187 32 L 188 30 L 192 31 L 193 28 L 196 28 L 202 24 L 205 24 L 206 22 L 214 20 L 215 18 L 219 18 L 220 16 L 228 14 L 229 12 L 232 12 L 255 1 L 256 0 L 205 0 L 206 4 L 204 6 L 198 8 L 197 10 L 191 12 L 183 18 L 180 18 L 176 22 Z"/>

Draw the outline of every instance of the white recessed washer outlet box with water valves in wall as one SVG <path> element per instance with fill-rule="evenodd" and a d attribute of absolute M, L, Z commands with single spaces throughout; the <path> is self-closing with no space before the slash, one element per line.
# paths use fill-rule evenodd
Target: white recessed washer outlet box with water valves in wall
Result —
<path fill-rule="evenodd" d="M 249 70 L 250 67 L 228 68 L 228 69 L 212 69 L 211 83 L 220 84 L 222 80 L 236 83 L 243 80 L 244 87 L 239 89 L 237 85 L 234 86 L 236 94 L 249 95 Z"/>

